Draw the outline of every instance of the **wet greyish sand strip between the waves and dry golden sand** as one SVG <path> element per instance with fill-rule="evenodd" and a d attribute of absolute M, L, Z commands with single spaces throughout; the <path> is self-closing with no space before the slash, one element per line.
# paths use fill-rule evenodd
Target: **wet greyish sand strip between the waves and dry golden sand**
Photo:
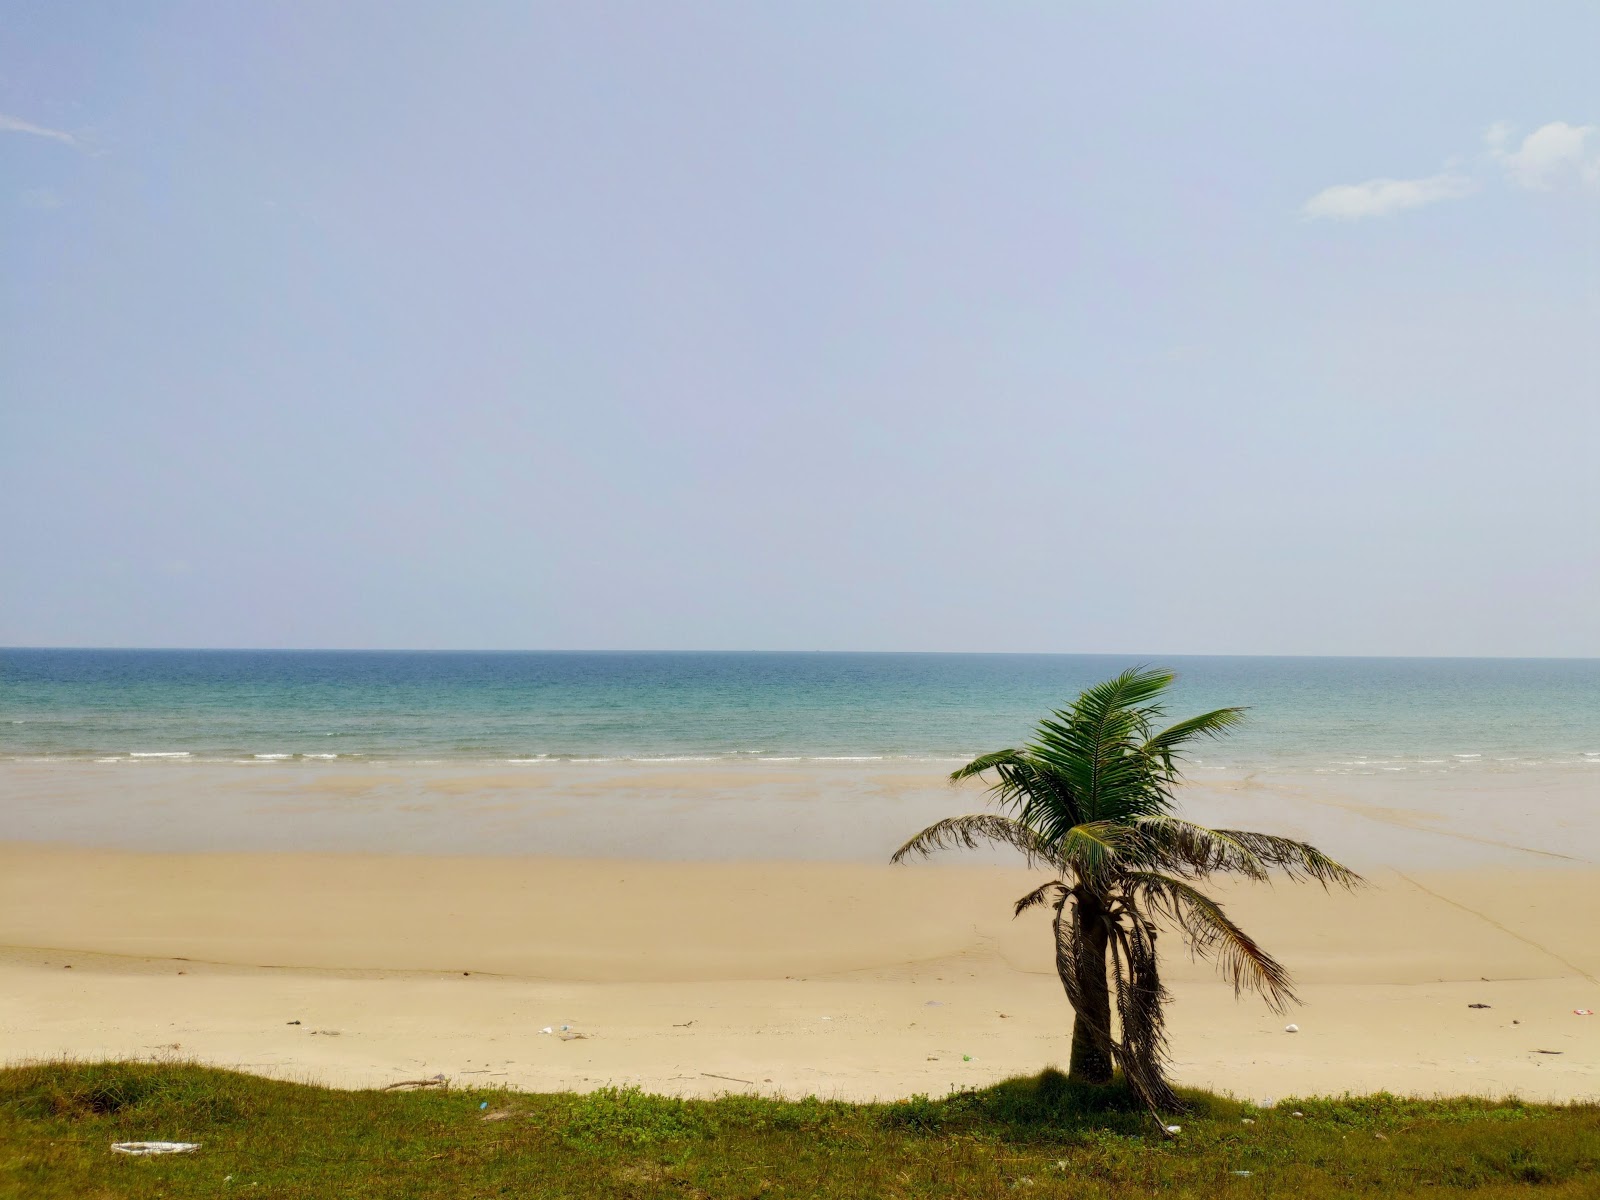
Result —
<path fill-rule="evenodd" d="M 982 787 L 949 784 L 946 766 L 0 762 L 0 842 L 882 862 L 933 821 L 986 808 Z M 1178 798 L 1197 821 L 1298 837 L 1357 869 L 1600 864 L 1600 770 L 1589 766 L 1197 771 Z"/>

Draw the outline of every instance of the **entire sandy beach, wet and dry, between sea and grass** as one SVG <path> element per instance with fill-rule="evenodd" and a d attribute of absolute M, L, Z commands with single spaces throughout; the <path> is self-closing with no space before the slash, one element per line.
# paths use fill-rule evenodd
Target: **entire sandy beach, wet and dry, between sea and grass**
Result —
<path fill-rule="evenodd" d="M 1011 918 L 1034 877 L 1000 862 L 882 861 L 885 837 L 976 806 L 976 794 L 933 782 L 938 771 L 851 768 L 848 778 L 888 797 L 845 826 L 851 838 L 838 835 L 842 802 L 821 813 L 794 803 L 802 784 L 846 776 L 770 776 L 776 792 L 747 800 L 718 840 L 718 816 L 750 779 L 707 789 L 704 766 L 658 766 L 648 784 L 634 768 L 635 794 L 666 773 L 678 806 L 613 826 L 627 853 L 602 858 L 573 851 L 616 819 L 614 776 L 510 787 L 464 768 L 109 770 L 122 774 L 14 763 L 3 773 L 0 1038 L 11 1061 L 179 1056 L 338 1086 L 443 1074 L 538 1090 L 886 1099 L 1066 1059 L 1069 1010 L 1046 918 Z M 902 776 L 915 786 L 896 784 Z M 219 778 L 232 790 L 218 794 Z M 1178 1080 L 1256 1099 L 1379 1088 L 1600 1094 L 1600 1018 L 1574 1013 L 1600 1010 L 1600 869 L 1581 838 L 1562 837 L 1563 826 L 1587 827 L 1594 784 L 1574 778 L 1530 795 L 1525 806 L 1546 824 L 1523 822 L 1520 846 L 1501 835 L 1518 824 L 1494 792 L 1510 787 L 1504 779 L 1456 810 L 1494 810 L 1504 830 L 1445 806 L 1430 818 L 1426 805 L 1386 805 L 1362 786 L 1195 789 L 1205 819 L 1317 835 L 1371 886 L 1325 896 L 1224 885 L 1229 910 L 1293 970 L 1306 1003 L 1275 1016 L 1259 1000 L 1235 1002 L 1174 938 Z M 344 848 L 330 830 L 350 821 L 352 797 L 382 787 L 426 794 L 458 818 L 498 806 L 485 827 L 499 822 L 504 853 L 459 853 L 448 838 L 432 854 L 410 843 Z M 226 850 L 184 840 L 206 789 L 216 826 L 206 838 Z M 589 816 L 563 818 L 586 792 Z M 157 794 L 165 808 L 133 803 Z M 301 819 L 288 822 L 293 808 Z M 46 838 L 51 810 L 58 834 Z M 426 829 L 437 813 L 410 816 Z M 371 805 L 365 819 L 382 824 Z M 288 826 L 338 850 L 286 845 Z M 405 814 L 384 827 L 403 832 Z M 560 853 L 530 853 L 517 835 L 530 829 L 565 837 Z M 650 829 L 672 832 L 659 853 L 638 846 Z M 152 850 L 160 840 L 178 850 Z M 754 853 L 763 840 L 765 856 Z M 685 853 L 696 843 L 720 853 Z M 1283 1032 L 1290 1021 L 1298 1034 Z"/>

